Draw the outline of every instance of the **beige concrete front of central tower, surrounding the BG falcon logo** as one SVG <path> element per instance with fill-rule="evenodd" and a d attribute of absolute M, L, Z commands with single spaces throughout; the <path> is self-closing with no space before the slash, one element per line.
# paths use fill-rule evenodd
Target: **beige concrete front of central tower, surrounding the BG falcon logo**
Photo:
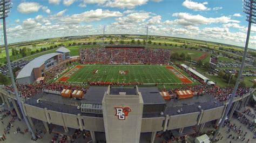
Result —
<path fill-rule="evenodd" d="M 131 112 L 125 120 L 119 120 L 115 107 L 130 107 Z M 112 96 L 105 93 L 102 108 L 107 143 L 139 143 L 143 113 L 141 94 Z"/>

